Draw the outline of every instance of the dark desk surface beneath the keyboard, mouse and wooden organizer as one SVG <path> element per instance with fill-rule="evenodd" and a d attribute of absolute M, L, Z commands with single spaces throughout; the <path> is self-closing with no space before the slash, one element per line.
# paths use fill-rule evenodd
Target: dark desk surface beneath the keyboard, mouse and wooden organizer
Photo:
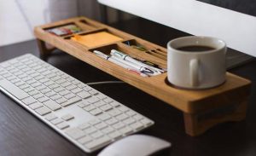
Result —
<path fill-rule="evenodd" d="M 169 39 L 185 35 L 144 22 L 138 21 L 138 26 L 133 23 L 116 27 L 162 46 Z M 151 30 L 140 27 L 148 24 Z M 154 35 L 149 35 L 152 32 Z M 0 47 L 0 61 L 26 53 L 39 54 L 35 41 Z M 56 51 L 47 61 L 84 83 L 118 80 L 60 51 Z M 129 84 L 100 84 L 92 87 L 153 119 L 154 126 L 141 133 L 172 142 L 172 156 L 256 155 L 256 61 L 236 67 L 230 72 L 253 82 L 246 120 L 219 124 L 197 137 L 184 133 L 183 114 L 180 111 Z M 0 123 L 0 155 L 96 155 L 82 152 L 3 93 L 0 93 Z"/>

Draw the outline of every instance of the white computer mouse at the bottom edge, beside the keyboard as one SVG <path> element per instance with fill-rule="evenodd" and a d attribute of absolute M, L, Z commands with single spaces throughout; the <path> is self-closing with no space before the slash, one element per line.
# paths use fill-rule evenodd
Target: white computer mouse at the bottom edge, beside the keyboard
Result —
<path fill-rule="evenodd" d="M 170 142 L 154 136 L 132 135 L 113 142 L 98 156 L 148 156 L 171 147 Z"/>

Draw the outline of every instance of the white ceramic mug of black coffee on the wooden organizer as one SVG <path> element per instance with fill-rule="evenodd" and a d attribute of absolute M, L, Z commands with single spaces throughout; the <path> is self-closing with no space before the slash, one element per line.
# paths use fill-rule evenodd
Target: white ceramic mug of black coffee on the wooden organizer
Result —
<path fill-rule="evenodd" d="M 167 49 L 167 78 L 172 85 L 207 89 L 224 83 L 224 41 L 211 37 L 183 37 L 167 43 Z"/>

